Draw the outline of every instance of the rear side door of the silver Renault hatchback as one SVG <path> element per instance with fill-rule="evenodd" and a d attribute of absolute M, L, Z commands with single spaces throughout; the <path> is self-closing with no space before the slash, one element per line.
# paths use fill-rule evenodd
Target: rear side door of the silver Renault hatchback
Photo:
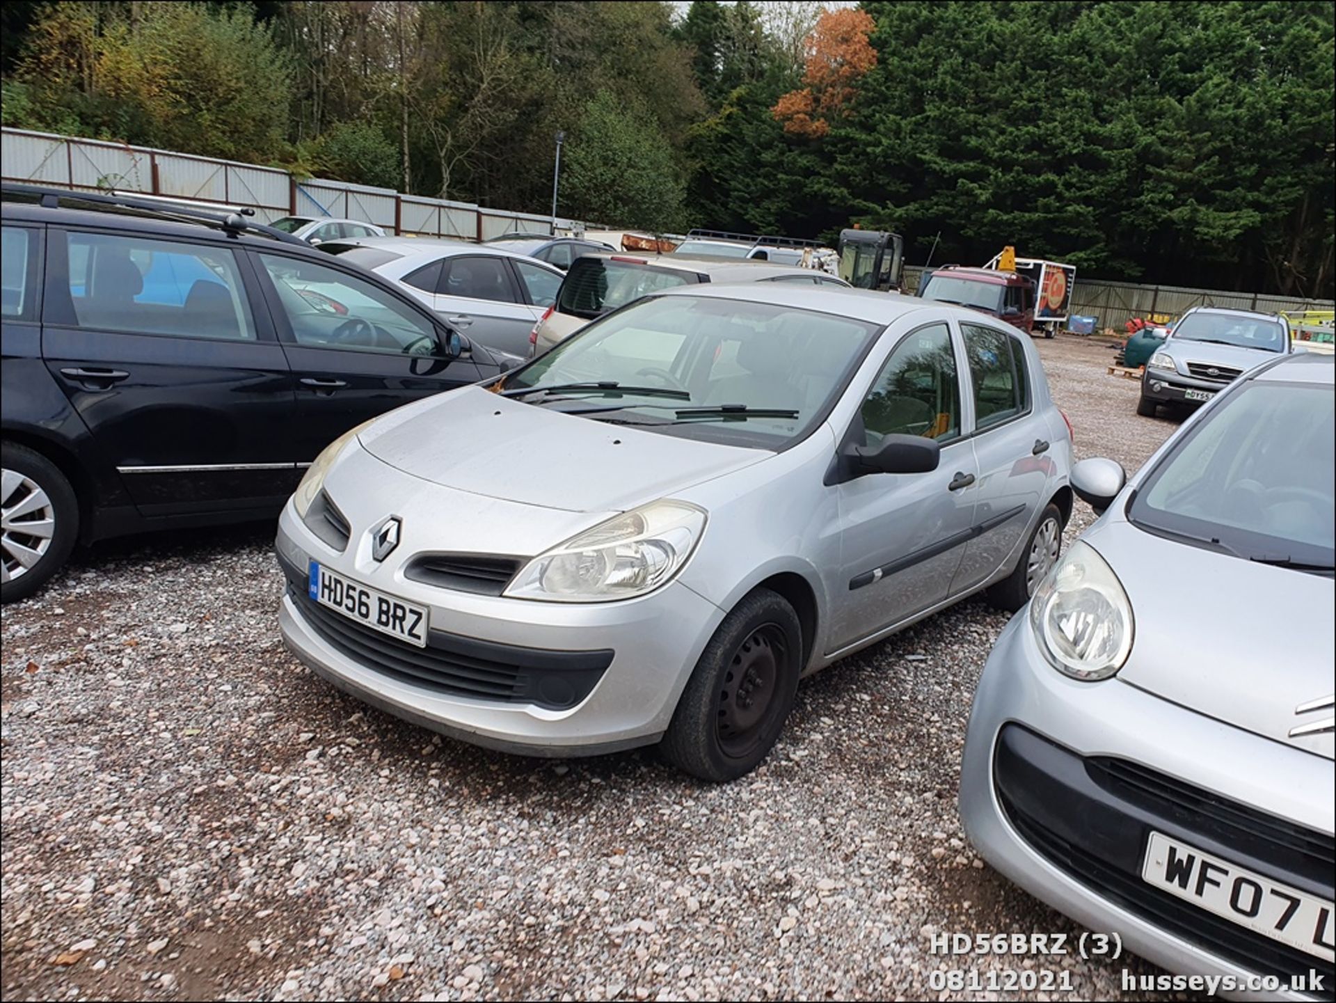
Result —
<path fill-rule="evenodd" d="M 951 592 L 974 588 L 997 572 L 1033 525 L 1054 475 L 1046 455 L 1053 433 L 1034 411 L 1027 335 L 962 322 L 961 338 L 974 401 L 971 442 L 978 462 L 977 536 L 965 548 Z"/>

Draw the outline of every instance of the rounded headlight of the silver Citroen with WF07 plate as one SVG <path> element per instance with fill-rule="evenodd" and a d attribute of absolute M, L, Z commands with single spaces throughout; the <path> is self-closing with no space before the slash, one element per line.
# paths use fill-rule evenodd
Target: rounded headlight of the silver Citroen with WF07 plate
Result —
<path fill-rule="evenodd" d="M 1071 678 L 1109 678 L 1132 652 L 1132 604 L 1094 548 L 1077 541 L 1034 590 L 1030 626 L 1039 650 Z"/>

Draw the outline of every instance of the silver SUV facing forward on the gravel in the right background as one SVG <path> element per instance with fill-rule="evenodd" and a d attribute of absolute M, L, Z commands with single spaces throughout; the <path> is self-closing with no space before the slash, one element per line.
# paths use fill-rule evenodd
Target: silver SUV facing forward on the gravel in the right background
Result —
<path fill-rule="evenodd" d="M 1289 322 L 1280 314 L 1193 307 L 1146 362 L 1137 414 L 1150 418 L 1158 405 L 1197 407 L 1255 366 L 1292 351 Z"/>

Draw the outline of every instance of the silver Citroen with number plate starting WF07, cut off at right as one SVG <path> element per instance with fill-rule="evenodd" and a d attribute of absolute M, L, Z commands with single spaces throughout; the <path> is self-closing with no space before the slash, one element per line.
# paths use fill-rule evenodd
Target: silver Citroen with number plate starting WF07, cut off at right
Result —
<path fill-rule="evenodd" d="M 1003 875 L 1234 998 L 1331 999 L 1336 363 L 1237 379 L 1128 483 L 998 638 L 961 817 Z"/>

